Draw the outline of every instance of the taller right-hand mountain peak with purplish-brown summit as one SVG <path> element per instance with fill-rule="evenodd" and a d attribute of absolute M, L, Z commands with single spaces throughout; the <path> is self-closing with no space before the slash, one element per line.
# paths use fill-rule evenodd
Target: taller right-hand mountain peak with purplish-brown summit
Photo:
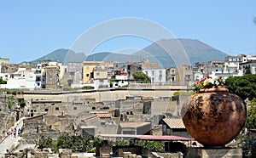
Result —
<path fill-rule="evenodd" d="M 137 56 L 148 56 L 159 61 L 165 68 L 196 62 L 224 60 L 227 54 L 196 39 L 162 39 L 137 52 Z M 175 62 L 174 62 L 175 60 Z"/>

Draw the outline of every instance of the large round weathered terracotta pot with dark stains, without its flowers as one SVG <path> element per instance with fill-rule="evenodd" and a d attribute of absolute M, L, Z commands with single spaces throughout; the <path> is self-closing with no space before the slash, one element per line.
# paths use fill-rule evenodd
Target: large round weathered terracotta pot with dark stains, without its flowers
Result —
<path fill-rule="evenodd" d="M 225 87 L 201 89 L 183 104 L 183 123 L 205 147 L 223 147 L 240 133 L 246 121 L 244 101 Z"/>

